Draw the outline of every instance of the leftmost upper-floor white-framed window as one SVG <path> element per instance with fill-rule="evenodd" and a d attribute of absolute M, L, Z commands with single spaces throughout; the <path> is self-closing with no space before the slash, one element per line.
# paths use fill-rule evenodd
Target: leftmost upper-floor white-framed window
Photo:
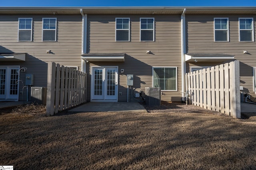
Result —
<path fill-rule="evenodd" d="M 32 41 L 32 18 L 18 19 L 18 41 Z"/>

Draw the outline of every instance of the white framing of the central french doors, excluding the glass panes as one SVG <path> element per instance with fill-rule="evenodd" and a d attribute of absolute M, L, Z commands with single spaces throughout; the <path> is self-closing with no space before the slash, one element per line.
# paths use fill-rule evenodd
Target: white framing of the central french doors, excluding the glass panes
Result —
<path fill-rule="evenodd" d="M 103 99 L 93 99 L 93 92 L 94 92 L 94 68 L 102 68 L 103 69 L 103 80 L 106 79 L 106 68 L 115 68 L 116 69 L 116 99 L 114 100 L 110 100 L 110 99 L 106 99 L 105 97 L 105 94 L 106 94 L 106 84 L 104 84 L 104 95 L 103 95 Z M 118 102 L 118 81 L 119 81 L 119 78 L 118 78 L 118 66 L 91 66 L 91 94 L 90 94 L 90 101 L 91 102 Z"/>

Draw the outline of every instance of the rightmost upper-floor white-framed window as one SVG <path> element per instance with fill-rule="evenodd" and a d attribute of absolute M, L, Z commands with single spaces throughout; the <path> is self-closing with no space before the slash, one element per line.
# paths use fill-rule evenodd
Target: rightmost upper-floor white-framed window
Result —
<path fill-rule="evenodd" d="M 239 41 L 254 41 L 253 18 L 239 18 Z"/>

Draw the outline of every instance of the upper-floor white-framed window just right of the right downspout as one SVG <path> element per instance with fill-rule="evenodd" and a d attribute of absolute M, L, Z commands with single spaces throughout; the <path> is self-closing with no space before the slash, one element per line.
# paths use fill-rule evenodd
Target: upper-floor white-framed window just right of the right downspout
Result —
<path fill-rule="evenodd" d="M 228 18 L 214 18 L 214 41 L 229 41 Z"/>

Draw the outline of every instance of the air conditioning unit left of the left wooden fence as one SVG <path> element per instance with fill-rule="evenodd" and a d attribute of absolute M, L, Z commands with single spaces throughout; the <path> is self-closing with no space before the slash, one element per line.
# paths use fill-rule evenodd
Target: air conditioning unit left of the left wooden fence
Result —
<path fill-rule="evenodd" d="M 46 87 L 31 87 L 32 104 L 46 104 Z"/>

